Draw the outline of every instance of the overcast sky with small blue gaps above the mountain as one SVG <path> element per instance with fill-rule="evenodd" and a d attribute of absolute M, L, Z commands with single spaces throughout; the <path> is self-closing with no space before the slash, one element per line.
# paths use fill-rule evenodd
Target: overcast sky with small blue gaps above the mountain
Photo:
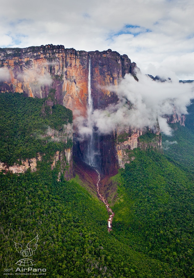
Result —
<path fill-rule="evenodd" d="M 142 73 L 194 79 L 193 0 L 6 0 L 0 47 L 62 44 L 127 54 Z"/>

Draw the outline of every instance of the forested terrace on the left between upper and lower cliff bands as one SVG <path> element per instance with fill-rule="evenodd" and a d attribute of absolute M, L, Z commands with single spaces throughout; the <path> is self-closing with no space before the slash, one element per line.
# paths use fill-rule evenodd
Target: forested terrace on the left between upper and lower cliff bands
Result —
<path fill-rule="evenodd" d="M 19 93 L 0 93 L 1 162 L 13 165 L 18 159 L 36 157 L 37 152 L 53 154 L 72 146 L 71 139 L 65 145 L 62 141 L 52 141 L 48 134 L 48 128 L 59 131 L 72 123 L 72 111 L 53 105 L 51 114 L 45 100 Z"/>

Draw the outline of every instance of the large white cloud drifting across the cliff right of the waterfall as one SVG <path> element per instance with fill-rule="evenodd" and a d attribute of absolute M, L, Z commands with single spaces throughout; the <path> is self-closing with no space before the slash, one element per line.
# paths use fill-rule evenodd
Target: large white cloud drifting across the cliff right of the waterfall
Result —
<path fill-rule="evenodd" d="M 83 117 L 77 117 L 80 140 L 93 134 L 95 127 L 99 134 L 110 134 L 117 127 L 155 128 L 158 123 L 160 130 L 171 135 L 171 128 L 164 115 L 171 116 L 187 114 L 187 106 L 194 98 L 192 83 L 179 83 L 174 76 L 167 81 L 152 80 L 149 76 L 137 73 L 138 82 L 132 75 L 126 74 L 118 86 L 109 86 L 108 91 L 114 91 L 119 101 L 110 104 L 106 109 L 95 109 L 90 122 Z M 104 87 L 103 87 L 104 89 Z"/>

